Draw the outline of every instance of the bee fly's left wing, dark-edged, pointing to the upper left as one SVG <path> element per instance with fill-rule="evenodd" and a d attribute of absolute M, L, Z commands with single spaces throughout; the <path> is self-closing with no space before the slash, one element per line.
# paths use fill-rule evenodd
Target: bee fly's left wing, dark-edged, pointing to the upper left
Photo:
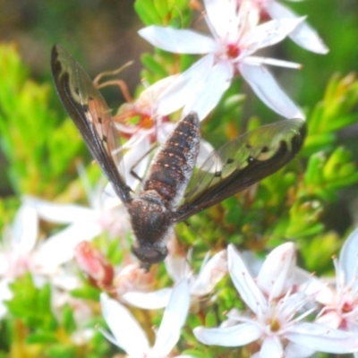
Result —
<path fill-rule="evenodd" d="M 131 200 L 130 188 L 117 169 L 122 161 L 120 141 L 105 99 L 81 65 L 60 45 L 52 49 L 51 68 L 57 93 L 93 158 L 121 200 Z"/>

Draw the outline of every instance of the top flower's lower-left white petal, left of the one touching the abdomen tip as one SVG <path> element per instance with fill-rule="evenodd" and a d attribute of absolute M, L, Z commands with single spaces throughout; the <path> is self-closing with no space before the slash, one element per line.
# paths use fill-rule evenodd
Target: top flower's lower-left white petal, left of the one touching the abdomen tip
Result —
<path fill-rule="evenodd" d="M 175 81 L 159 96 L 158 113 L 168 115 L 182 108 L 193 95 L 197 93 L 196 88 L 208 76 L 214 64 L 214 55 L 206 55 L 199 61 L 176 77 Z"/>

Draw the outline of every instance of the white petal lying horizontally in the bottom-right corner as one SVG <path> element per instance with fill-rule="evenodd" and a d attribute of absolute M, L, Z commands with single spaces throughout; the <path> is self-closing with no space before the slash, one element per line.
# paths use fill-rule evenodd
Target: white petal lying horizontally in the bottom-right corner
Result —
<path fill-rule="evenodd" d="M 358 351 L 356 334 L 315 323 L 296 323 L 286 330 L 285 337 L 319 352 L 347 354 Z"/>

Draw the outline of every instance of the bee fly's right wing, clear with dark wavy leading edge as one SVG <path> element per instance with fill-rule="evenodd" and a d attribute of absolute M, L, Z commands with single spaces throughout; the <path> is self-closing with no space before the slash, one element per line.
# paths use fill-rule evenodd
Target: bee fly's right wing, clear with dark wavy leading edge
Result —
<path fill-rule="evenodd" d="M 241 192 L 285 166 L 301 149 L 305 123 L 291 119 L 244 133 L 213 152 L 192 176 L 173 222 Z"/>

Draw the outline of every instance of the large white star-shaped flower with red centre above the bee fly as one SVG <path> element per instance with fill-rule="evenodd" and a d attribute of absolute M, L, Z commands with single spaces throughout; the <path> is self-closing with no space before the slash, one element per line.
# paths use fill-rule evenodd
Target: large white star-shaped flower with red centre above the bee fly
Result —
<path fill-rule="evenodd" d="M 183 107 L 183 115 L 194 111 L 203 119 L 217 105 L 234 75 L 240 72 L 266 106 L 287 118 L 303 118 L 302 111 L 263 66 L 299 68 L 300 65 L 253 54 L 286 38 L 304 18 L 272 20 L 258 25 L 259 12 L 250 1 L 245 0 L 238 11 L 235 0 L 206 0 L 204 4 L 211 37 L 193 30 L 159 26 L 139 31 L 141 37 L 166 51 L 205 55 L 178 75 L 159 96 L 158 112 L 166 115 Z"/>

